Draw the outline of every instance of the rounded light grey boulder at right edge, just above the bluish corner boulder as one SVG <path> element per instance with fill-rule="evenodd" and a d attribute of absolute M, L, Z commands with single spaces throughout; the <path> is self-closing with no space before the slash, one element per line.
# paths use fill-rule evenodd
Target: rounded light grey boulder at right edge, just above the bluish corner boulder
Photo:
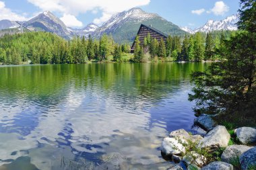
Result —
<path fill-rule="evenodd" d="M 238 140 L 243 144 L 256 143 L 256 129 L 249 127 L 237 128 L 235 130 Z"/>

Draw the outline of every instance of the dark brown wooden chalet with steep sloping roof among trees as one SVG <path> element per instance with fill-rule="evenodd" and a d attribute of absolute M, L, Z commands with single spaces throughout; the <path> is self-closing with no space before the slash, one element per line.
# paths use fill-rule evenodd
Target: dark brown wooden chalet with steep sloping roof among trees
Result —
<path fill-rule="evenodd" d="M 139 36 L 139 42 L 140 42 L 140 46 L 143 46 L 143 40 L 146 36 L 148 36 L 148 34 L 150 34 L 151 38 L 156 38 L 156 40 L 158 40 L 158 42 L 160 42 L 161 38 L 164 40 L 164 42 L 166 42 L 167 39 L 167 35 L 164 34 L 163 32 L 160 32 L 159 30 L 156 30 L 156 28 L 153 28 L 152 26 L 146 26 L 144 24 L 141 24 L 141 26 L 139 27 L 139 31 L 137 32 L 137 36 Z M 134 48 L 135 48 L 135 40 L 133 42 L 133 45 L 131 46 L 131 53 L 134 52 Z"/>

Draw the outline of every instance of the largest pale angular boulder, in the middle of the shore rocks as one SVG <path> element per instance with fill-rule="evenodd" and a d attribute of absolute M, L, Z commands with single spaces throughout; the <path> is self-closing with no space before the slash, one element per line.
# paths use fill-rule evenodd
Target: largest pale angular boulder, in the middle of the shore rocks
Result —
<path fill-rule="evenodd" d="M 201 148 L 211 148 L 215 150 L 219 147 L 228 146 L 230 140 L 230 134 L 226 130 L 225 126 L 216 126 L 213 130 L 207 133 L 207 135 L 199 140 L 198 146 Z"/>

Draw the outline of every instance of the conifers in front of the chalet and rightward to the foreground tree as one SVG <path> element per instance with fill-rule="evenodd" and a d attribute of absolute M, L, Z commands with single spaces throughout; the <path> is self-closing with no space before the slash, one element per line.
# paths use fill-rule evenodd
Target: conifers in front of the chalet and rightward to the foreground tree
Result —
<path fill-rule="evenodd" d="M 208 32 L 203 34 L 197 32 L 194 35 L 168 36 L 166 43 L 163 39 L 153 39 L 148 34 L 143 40 L 143 46 L 139 46 L 139 37 L 135 38 L 135 61 L 143 61 L 143 58 L 171 58 L 174 61 L 218 60 L 222 56 L 218 50 L 222 48 L 223 42 L 234 32 Z"/>

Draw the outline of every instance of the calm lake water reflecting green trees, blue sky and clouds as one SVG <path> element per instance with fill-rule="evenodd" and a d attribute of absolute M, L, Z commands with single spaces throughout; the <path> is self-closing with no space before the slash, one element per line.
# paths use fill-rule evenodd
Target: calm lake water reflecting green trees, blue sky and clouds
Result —
<path fill-rule="evenodd" d="M 166 169 L 203 63 L 0 67 L 0 170 Z"/>

